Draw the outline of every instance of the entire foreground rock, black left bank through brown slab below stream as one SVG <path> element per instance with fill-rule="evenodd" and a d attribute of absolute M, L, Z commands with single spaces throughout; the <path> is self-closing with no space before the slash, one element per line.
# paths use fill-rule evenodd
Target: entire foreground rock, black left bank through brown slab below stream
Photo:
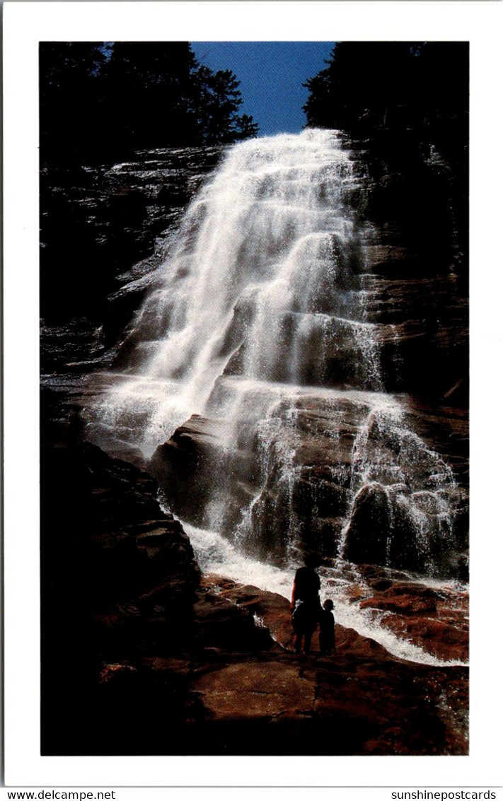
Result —
<path fill-rule="evenodd" d="M 296 658 L 288 601 L 201 578 L 147 473 L 53 445 L 42 485 L 44 755 L 466 753 L 465 667 L 342 626 L 335 656 Z"/>

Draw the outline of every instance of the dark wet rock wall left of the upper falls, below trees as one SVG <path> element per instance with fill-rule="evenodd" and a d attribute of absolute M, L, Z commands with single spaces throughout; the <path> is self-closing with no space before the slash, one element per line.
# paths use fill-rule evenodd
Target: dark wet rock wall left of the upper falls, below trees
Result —
<path fill-rule="evenodd" d="M 143 262 L 143 272 L 137 263 L 175 227 L 220 155 L 218 147 L 189 147 L 139 151 L 127 163 L 43 167 L 42 317 L 91 316 L 104 325 L 102 342 L 115 342 L 146 288 L 138 278 L 159 259 Z"/>

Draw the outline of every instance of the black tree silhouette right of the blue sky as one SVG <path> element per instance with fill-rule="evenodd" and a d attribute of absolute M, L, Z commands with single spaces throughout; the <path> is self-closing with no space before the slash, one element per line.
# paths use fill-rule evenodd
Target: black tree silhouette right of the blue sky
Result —
<path fill-rule="evenodd" d="M 414 131 L 462 157 L 468 144 L 468 42 L 338 42 L 304 84 L 309 127 Z"/>

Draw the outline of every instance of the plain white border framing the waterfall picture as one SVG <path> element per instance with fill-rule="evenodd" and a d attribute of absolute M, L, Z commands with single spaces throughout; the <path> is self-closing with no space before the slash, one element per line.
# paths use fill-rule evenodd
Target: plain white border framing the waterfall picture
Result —
<path fill-rule="evenodd" d="M 501 453 L 497 392 L 501 348 L 497 346 L 501 346 L 502 10 L 499 2 L 6 2 L 5 677 L 9 786 L 352 787 L 398 783 L 408 787 L 459 787 L 501 783 L 497 587 L 502 560 L 501 512 L 496 505 L 501 478 L 496 458 L 490 457 L 491 452 L 495 456 Z M 441 39 L 471 43 L 471 308 L 476 356 L 472 358 L 471 376 L 476 392 L 472 425 L 474 595 L 469 757 L 109 759 L 39 755 L 38 42 L 163 38 Z M 353 797 L 346 793 L 348 798 Z M 389 798 L 391 791 L 372 797 Z"/>

